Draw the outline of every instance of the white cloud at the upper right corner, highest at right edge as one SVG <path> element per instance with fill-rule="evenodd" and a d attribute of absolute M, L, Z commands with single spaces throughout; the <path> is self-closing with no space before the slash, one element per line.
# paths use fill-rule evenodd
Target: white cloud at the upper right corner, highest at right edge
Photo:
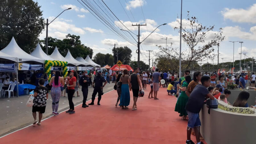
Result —
<path fill-rule="evenodd" d="M 225 8 L 221 13 L 224 19 L 229 19 L 233 22 L 256 23 L 256 4 L 253 4 L 247 9 Z"/>

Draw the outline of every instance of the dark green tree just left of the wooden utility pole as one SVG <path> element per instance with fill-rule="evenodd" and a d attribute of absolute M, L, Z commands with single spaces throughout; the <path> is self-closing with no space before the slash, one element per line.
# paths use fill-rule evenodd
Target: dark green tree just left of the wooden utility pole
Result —
<path fill-rule="evenodd" d="M 127 46 L 113 48 L 112 52 L 114 56 L 114 63 L 117 63 L 116 53 L 118 53 L 118 60 L 122 61 L 124 65 L 128 65 L 130 63 L 132 57 L 132 50 Z"/>

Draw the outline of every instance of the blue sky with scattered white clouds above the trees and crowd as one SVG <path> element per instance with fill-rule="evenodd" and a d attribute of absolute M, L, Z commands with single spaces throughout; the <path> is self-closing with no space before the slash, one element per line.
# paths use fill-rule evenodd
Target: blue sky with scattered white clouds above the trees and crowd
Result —
<path fill-rule="evenodd" d="M 93 2 L 93 0 L 90 1 Z M 101 2 L 101 0 L 99 1 Z M 49 25 L 49 36 L 63 39 L 68 33 L 79 35 L 82 43 L 93 49 L 94 55 L 98 52 L 112 53 L 109 48 L 112 48 L 114 43 L 117 46 L 128 46 L 132 49 L 132 60 L 134 57 L 137 59 L 136 46 L 116 36 L 88 12 L 86 8 L 78 3 L 78 1 L 37 0 L 37 2 L 41 5 L 43 17 L 49 20 L 53 20 L 64 9 L 72 7 L 71 10 L 62 13 L 58 19 Z M 157 26 L 163 23 L 168 24 L 159 27 L 155 33 L 141 44 L 144 51 L 141 52 L 146 54 L 146 56 L 144 54 L 141 55 L 141 60 L 144 62 L 148 63 L 148 52 L 146 50 L 157 52 L 156 44 L 165 46 L 165 40 L 161 40 L 160 38 L 173 38 L 168 40 L 169 45 L 172 42 L 173 46 L 179 47 L 179 33 L 173 27 L 177 25 L 175 22 L 177 16 L 180 17 L 180 0 L 104 0 L 104 2 L 123 21 L 124 25 L 135 34 L 138 33 L 138 28 L 132 27 L 131 24 L 145 24 L 146 20 L 147 27 L 141 27 L 141 40 Z M 127 4 L 131 11 L 127 7 Z M 140 4 L 142 5 L 145 19 Z M 215 25 L 214 31 L 218 31 L 220 27 L 223 28 L 223 35 L 226 38 L 220 44 L 220 60 L 223 58 L 224 62 L 231 61 L 231 59 L 233 61 L 233 43 L 228 41 L 243 41 L 242 53 L 246 53 L 249 57 L 256 57 L 256 1 L 183 0 L 183 19 L 186 19 L 187 11 L 189 11 L 190 16 L 198 17 L 202 25 Z M 184 25 L 185 23 L 186 21 L 183 22 Z M 40 38 L 43 39 L 45 35 L 45 31 L 43 31 Z M 239 59 L 238 53 L 240 53 L 240 47 L 240 43 L 235 43 L 235 60 Z M 186 44 L 182 42 L 182 50 L 186 49 Z M 214 53 L 217 53 L 217 48 L 215 50 Z M 244 58 L 244 55 L 242 58 Z M 217 59 L 214 60 L 214 63 L 216 62 Z"/>

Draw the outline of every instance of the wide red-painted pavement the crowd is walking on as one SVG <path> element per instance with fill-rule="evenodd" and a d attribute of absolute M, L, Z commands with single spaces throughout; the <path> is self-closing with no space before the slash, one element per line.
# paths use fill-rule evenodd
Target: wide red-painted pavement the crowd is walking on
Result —
<path fill-rule="evenodd" d="M 159 100 L 148 99 L 150 86 L 137 102 L 137 110 L 115 107 L 117 93 L 105 93 L 100 106 L 75 107 L 75 114 L 60 113 L 0 139 L 1 144 L 14 143 L 92 143 L 92 144 L 180 144 L 187 137 L 187 120 L 174 111 L 176 97 L 160 88 Z M 91 101 L 88 101 L 90 103 Z M 95 100 L 97 103 L 97 98 Z M 48 103 L 49 105 L 50 103 Z M 38 117 L 38 116 L 37 116 Z M 31 119 L 32 112 L 31 112 Z M 188 118 L 187 118 L 188 119 Z M 195 142 L 195 136 L 191 136 Z"/>

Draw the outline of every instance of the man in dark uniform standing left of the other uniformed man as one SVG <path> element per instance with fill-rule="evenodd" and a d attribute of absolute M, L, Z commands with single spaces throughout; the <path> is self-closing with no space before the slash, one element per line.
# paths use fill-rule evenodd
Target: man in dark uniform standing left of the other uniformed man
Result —
<path fill-rule="evenodd" d="M 83 75 L 81 76 L 79 82 L 80 85 L 82 86 L 82 92 L 83 92 L 83 108 L 89 107 L 88 105 L 86 105 L 86 100 L 87 100 L 87 96 L 88 96 L 88 84 L 90 83 L 89 81 L 89 76 L 87 74 L 87 70 L 84 71 Z"/>

